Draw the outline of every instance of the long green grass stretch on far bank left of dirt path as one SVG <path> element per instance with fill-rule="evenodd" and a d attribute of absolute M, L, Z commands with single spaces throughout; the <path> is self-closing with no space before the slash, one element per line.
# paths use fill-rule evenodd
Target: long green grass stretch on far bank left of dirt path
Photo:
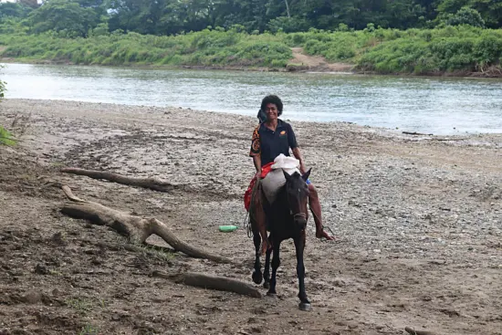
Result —
<path fill-rule="evenodd" d="M 273 35 L 254 36 L 235 31 L 209 31 L 174 37 L 137 33 L 89 38 L 61 38 L 47 33 L 4 36 L 4 57 L 47 59 L 85 65 L 193 65 L 280 68 L 291 50 Z"/>

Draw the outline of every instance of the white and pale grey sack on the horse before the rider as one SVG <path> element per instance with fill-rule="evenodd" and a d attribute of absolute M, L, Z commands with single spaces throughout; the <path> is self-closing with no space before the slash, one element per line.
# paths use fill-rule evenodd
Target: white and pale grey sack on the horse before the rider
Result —
<path fill-rule="evenodd" d="M 279 189 L 286 183 L 283 171 L 289 175 L 300 173 L 298 167 L 299 161 L 294 157 L 285 156 L 283 153 L 276 157 L 274 164 L 272 164 L 272 171 L 260 181 L 268 204 L 272 204 L 276 200 Z"/>

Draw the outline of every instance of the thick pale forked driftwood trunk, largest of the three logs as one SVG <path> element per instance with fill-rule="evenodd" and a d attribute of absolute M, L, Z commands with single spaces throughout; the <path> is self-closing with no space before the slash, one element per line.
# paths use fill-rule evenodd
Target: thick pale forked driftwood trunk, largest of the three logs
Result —
<path fill-rule="evenodd" d="M 128 215 L 124 212 L 106 207 L 102 204 L 82 200 L 75 196 L 68 185 L 61 187 L 71 203 L 61 209 L 64 215 L 78 219 L 86 219 L 96 225 L 107 225 L 120 235 L 128 236 L 134 243 L 145 243 L 146 239 L 155 234 L 160 236 L 174 250 L 183 252 L 187 256 L 209 259 L 218 263 L 231 263 L 228 258 L 210 254 L 204 250 L 190 246 L 176 237 L 161 221 L 155 218 L 143 218 Z"/>

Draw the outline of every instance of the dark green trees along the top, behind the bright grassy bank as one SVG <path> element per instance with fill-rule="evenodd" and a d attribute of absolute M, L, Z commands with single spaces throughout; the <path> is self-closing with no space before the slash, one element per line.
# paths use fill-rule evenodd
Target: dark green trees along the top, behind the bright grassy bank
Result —
<path fill-rule="evenodd" d="M 46 0 L 40 6 L 22 0 L 0 4 L 0 22 L 3 18 L 24 20 L 35 34 L 54 30 L 68 37 L 86 37 L 89 29 L 105 24 L 109 32 L 157 36 L 235 25 L 248 33 L 332 31 L 340 25 L 361 30 L 368 24 L 408 29 L 445 22 L 497 28 L 502 0 Z"/>

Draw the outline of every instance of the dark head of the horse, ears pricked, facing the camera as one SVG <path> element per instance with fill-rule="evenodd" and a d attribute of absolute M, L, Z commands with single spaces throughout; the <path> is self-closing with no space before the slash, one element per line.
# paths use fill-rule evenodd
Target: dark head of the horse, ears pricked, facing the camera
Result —
<path fill-rule="evenodd" d="M 289 175 L 284 172 L 286 178 L 286 194 L 288 198 L 288 207 L 295 226 L 299 230 L 304 230 L 307 227 L 308 209 L 309 204 L 309 185 L 306 183 L 309 179 L 310 170 L 301 175 L 293 173 Z"/>

